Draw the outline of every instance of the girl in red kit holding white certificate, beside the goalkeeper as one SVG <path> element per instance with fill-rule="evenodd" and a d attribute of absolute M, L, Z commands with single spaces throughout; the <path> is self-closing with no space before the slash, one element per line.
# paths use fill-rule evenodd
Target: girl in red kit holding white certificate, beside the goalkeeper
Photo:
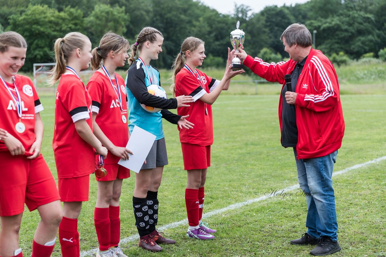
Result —
<path fill-rule="evenodd" d="M 120 158 L 129 159 L 132 152 L 125 148 L 129 140 L 125 81 L 115 73 L 115 69 L 125 65 L 129 47 L 124 37 L 108 32 L 91 52 L 91 68 L 98 69 L 87 84 L 93 103 L 93 131 L 111 153 L 104 160 L 107 175 L 97 177 L 98 197 L 94 212 L 99 242 L 97 257 L 115 256 L 112 251 L 118 257 L 127 257 L 118 245 L 119 197 L 122 181 L 129 178 L 130 170 L 120 166 L 118 161 Z"/>

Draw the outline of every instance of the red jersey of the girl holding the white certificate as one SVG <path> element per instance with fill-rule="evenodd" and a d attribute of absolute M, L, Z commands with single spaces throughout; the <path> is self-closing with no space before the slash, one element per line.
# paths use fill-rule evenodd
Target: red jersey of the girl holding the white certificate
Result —
<path fill-rule="evenodd" d="M 87 91 L 92 100 L 92 111 L 97 113 L 97 122 L 100 129 L 115 145 L 125 147 L 129 141 L 129 127 L 127 125 L 127 97 L 125 81 L 115 73 L 118 84 L 112 79 L 114 88 L 108 77 L 102 72 L 95 72 L 87 83 Z M 118 86 L 118 88 L 117 88 Z M 122 110 L 119 107 L 119 91 Z M 105 163 L 118 163 L 119 157 L 108 153 Z"/>

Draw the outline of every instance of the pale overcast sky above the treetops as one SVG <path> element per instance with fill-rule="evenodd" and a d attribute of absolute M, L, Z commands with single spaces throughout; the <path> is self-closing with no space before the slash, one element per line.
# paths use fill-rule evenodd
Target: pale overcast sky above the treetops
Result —
<path fill-rule="evenodd" d="M 305 3 L 308 1 L 309 0 L 200 0 L 200 2 L 205 5 L 215 8 L 218 12 L 224 14 L 234 13 L 235 2 L 237 5 L 247 5 L 251 7 L 252 13 L 257 13 L 269 5 L 277 5 L 280 7 L 284 4 L 295 5 L 295 3 Z"/>

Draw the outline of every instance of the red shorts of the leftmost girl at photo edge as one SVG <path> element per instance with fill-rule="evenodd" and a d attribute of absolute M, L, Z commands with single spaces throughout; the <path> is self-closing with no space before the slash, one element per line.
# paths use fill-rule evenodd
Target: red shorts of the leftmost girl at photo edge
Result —
<path fill-rule="evenodd" d="M 25 155 L 0 152 L 0 216 L 13 216 L 59 200 L 58 188 L 42 155 L 29 160 Z"/>

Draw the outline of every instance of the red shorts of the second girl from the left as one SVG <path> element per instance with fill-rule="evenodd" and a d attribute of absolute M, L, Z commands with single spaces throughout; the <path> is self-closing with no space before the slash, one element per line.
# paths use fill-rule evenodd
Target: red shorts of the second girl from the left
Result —
<path fill-rule="evenodd" d="M 90 189 L 90 175 L 58 179 L 61 202 L 86 202 Z"/>

